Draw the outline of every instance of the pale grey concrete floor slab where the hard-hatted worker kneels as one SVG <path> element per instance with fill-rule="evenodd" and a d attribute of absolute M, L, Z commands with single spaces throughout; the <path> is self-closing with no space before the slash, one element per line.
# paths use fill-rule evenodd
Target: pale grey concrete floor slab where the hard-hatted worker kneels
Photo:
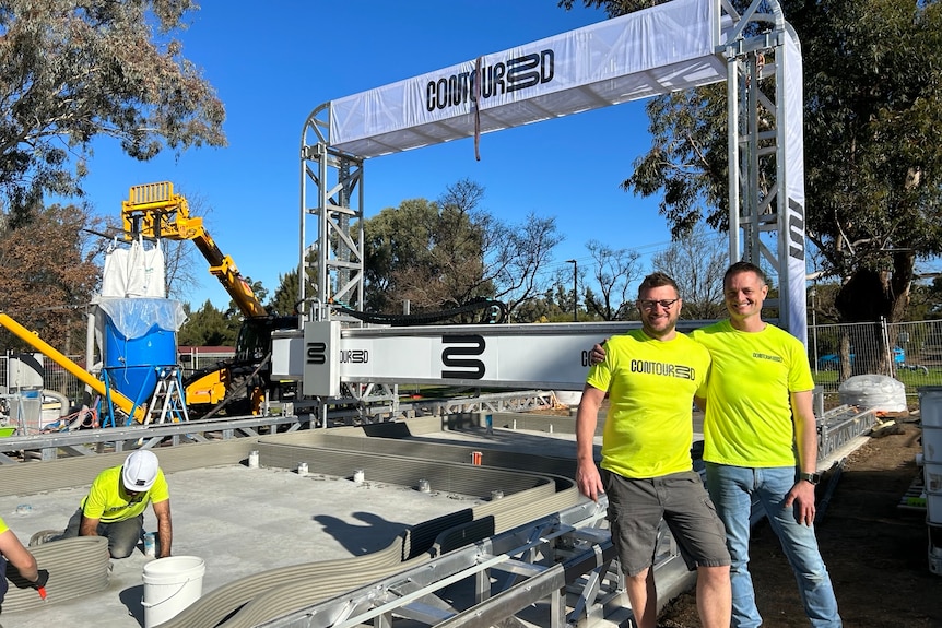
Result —
<path fill-rule="evenodd" d="M 167 475 L 174 520 L 174 555 L 205 561 L 203 592 L 259 571 L 358 556 L 387 547 L 408 525 L 480 503 L 460 495 L 382 484 L 362 485 L 281 469 L 227 465 Z M 433 487 L 434 488 L 434 487 Z M 24 544 L 33 533 L 62 529 L 87 486 L 0 497 L 0 516 Z M 148 511 L 144 529 L 155 530 Z M 113 560 L 110 584 L 99 594 L 3 613 L 4 628 L 144 625 L 143 547 Z M 48 588 L 56 585 L 51 573 Z"/>

